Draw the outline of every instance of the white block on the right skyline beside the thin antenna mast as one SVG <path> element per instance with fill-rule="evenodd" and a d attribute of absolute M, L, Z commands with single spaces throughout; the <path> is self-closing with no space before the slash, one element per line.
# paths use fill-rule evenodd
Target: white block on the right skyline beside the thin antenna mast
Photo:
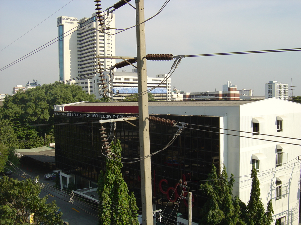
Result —
<path fill-rule="evenodd" d="M 281 98 L 288 100 L 288 84 L 270 81 L 265 84 L 265 98 Z"/>

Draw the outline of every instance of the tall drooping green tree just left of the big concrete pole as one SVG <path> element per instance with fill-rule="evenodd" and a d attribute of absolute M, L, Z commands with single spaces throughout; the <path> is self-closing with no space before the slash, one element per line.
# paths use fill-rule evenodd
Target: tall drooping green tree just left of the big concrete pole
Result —
<path fill-rule="evenodd" d="M 121 155 L 120 140 L 110 146 L 112 158 L 119 160 Z M 113 159 L 106 159 L 106 173 L 98 179 L 98 194 L 102 207 L 99 209 L 99 225 L 128 225 L 139 224 L 138 207 L 133 193 L 129 195 L 126 182 L 121 174 L 122 163 Z"/>

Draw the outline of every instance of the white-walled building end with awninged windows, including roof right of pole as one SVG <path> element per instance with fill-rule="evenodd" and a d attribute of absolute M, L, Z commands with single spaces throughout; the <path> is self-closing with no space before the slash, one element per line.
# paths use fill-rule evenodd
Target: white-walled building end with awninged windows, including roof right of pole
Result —
<path fill-rule="evenodd" d="M 154 114 L 220 116 L 220 128 L 235 130 L 221 129 L 224 134 L 220 134 L 220 163 L 225 164 L 228 175 L 234 174 L 233 195 L 246 204 L 250 200 L 250 173 L 255 165 L 265 209 L 272 199 L 272 224 L 279 218 L 285 224 L 299 224 L 301 104 L 278 98 L 152 104 L 149 112 Z"/>

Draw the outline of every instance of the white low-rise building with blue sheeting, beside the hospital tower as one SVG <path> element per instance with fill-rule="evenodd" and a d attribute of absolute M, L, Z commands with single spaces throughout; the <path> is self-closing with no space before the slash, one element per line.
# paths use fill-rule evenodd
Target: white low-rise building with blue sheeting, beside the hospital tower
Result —
<path fill-rule="evenodd" d="M 108 73 L 105 73 L 106 81 L 110 80 Z M 156 77 L 147 77 L 147 88 L 154 88 L 151 93 L 158 101 L 171 100 L 171 79 L 166 79 L 167 74 L 158 74 Z M 96 79 L 96 86 L 100 85 L 99 79 Z M 101 87 L 100 87 L 101 88 Z M 138 93 L 138 74 L 135 72 L 114 72 L 113 81 L 109 84 L 108 88 L 113 93 L 123 96 L 129 96 Z M 96 93 L 99 95 L 98 93 Z M 122 100 L 123 96 L 110 94 L 111 98 L 115 100 Z M 101 98 L 102 96 L 97 96 Z"/>

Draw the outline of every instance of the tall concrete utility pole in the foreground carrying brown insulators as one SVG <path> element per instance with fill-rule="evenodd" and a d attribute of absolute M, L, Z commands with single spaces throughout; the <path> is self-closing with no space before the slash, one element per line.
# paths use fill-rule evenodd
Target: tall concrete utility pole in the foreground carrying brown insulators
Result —
<path fill-rule="evenodd" d="M 139 138 L 140 157 L 151 153 L 148 122 L 148 98 L 147 98 L 147 75 L 146 75 L 146 49 L 144 31 L 144 1 L 136 0 L 136 33 L 137 33 L 137 69 L 138 69 L 138 97 L 139 109 Z M 138 25 L 140 24 L 140 25 Z M 153 225 L 153 203 L 151 192 L 151 158 L 141 160 L 141 201 L 142 201 L 142 223 Z"/>

